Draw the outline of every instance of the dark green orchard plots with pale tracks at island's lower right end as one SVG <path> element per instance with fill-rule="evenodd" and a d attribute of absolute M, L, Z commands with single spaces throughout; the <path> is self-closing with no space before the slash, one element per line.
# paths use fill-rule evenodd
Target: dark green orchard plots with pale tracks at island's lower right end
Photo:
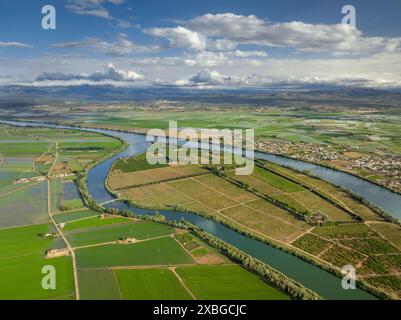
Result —
<path fill-rule="evenodd" d="M 401 251 L 370 226 L 354 223 L 317 227 L 291 245 L 339 270 L 345 265 L 352 265 L 356 268 L 357 279 L 399 299 Z"/>

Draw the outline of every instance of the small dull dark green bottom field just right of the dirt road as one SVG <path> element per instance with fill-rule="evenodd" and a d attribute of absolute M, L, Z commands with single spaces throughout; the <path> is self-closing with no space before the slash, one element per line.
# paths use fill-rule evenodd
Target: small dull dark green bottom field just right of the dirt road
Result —
<path fill-rule="evenodd" d="M 79 294 L 82 300 L 120 300 L 121 295 L 112 270 L 79 270 Z"/>

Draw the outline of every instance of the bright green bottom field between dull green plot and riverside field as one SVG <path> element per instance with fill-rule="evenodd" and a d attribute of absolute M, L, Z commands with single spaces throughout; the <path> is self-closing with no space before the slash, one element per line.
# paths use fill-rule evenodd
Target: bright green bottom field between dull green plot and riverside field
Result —
<path fill-rule="evenodd" d="M 190 294 L 169 269 L 115 270 L 125 300 L 189 300 Z"/>

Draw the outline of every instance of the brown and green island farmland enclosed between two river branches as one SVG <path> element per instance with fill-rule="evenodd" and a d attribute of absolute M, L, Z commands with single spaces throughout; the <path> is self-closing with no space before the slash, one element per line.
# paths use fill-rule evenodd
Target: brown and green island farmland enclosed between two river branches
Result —
<path fill-rule="evenodd" d="M 252 175 L 237 176 L 232 168 L 195 165 L 184 176 L 180 165 L 142 168 L 127 159 L 119 164 L 126 177 L 160 177 L 137 184 L 135 178 L 120 182 L 111 170 L 108 184 L 122 199 L 144 208 L 190 211 L 217 218 L 228 226 L 288 248 L 317 265 L 340 273 L 355 265 L 358 279 L 368 286 L 399 297 L 401 272 L 400 229 L 384 222 L 375 209 L 327 182 L 288 168 L 258 162 Z M 133 170 L 132 173 L 129 170 Z M 192 174 L 201 172 L 202 174 Z M 169 173 L 169 171 L 171 171 Z M 135 175 L 135 176 L 131 176 Z M 179 270 L 179 269 L 177 269 Z M 177 271 L 178 272 L 178 271 Z M 390 279 L 390 280 L 389 280 Z M 392 280 L 391 280 L 392 279 Z"/>

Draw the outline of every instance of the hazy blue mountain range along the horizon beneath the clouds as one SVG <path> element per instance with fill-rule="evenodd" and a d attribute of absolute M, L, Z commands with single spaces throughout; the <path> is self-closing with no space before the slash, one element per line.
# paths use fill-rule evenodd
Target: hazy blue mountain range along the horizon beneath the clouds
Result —
<path fill-rule="evenodd" d="M 315 87 L 308 90 L 293 89 L 182 89 L 174 87 L 135 87 L 122 88 L 114 86 L 3 86 L 0 87 L 0 106 L 12 103 L 27 103 L 33 101 L 146 101 L 146 100 L 170 100 L 170 101 L 198 101 L 204 103 L 227 103 L 249 105 L 276 105 L 291 106 L 296 102 L 325 103 L 325 104 L 377 104 L 383 107 L 399 106 L 400 92 L 391 92 L 377 89 L 364 88 L 338 88 Z"/>

